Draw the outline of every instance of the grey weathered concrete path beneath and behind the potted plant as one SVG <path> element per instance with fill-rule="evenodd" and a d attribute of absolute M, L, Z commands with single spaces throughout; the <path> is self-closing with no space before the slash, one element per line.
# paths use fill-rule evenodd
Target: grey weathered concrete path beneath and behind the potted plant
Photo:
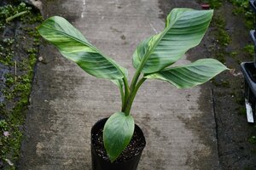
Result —
<path fill-rule="evenodd" d="M 165 25 L 156 0 L 37 3 L 45 18 L 61 15 L 73 23 L 104 54 L 125 66 L 130 78 L 131 55 L 138 42 Z M 187 0 L 170 1 L 170 5 L 200 7 Z M 36 68 L 19 169 L 90 170 L 90 127 L 120 110 L 119 90 L 112 82 L 85 74 L 46 42 L 40 56 L 44 62 Z M 167 82 L 147 81 L 131 113 L 147 140 L 139 170 L 219 169 L 207 86 L 178 90 Z"/>

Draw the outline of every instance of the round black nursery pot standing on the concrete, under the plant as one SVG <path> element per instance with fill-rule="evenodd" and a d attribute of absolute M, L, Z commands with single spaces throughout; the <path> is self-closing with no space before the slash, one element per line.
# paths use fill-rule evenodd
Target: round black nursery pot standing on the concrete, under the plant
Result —
<path fill-rule="evenodd" d="M 92 170 L 137 170 L 137 165 L 142 156 L 143 149 L 146 145 L 146 141 L 143 135 L 143 131 L 140 127 L 135 125 L 134 131 L 140 136 L 140 140 L 138 141 L 141 144 L 140 150 L 136 156 L 131 157 L 130 159 L 126 159 L 125 161 L 113 161 L 111 163 L 106 156 L 102 156 L 102 153 L 99 153 L 97 148 L 99 147 L 96 144 L 97 138 L 99 137 L 99 132 L 102 133 L 102 129 L 107 122 L 108 118 L 104 118 L 98 122 L 91 128 L 90 131 L 90 150 L 91 150 L 91 161 L 92 161 Z M 131 139 L 132 140 L 132 139 Z"/>

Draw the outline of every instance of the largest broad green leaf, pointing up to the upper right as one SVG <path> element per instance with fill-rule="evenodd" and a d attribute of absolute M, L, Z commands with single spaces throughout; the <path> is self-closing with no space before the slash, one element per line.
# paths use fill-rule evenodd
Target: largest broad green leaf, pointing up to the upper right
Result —
<path fill-rule="evenodd" d="M 133 65 L 143 65 L 143 73 L 153 73 L 172 65 L 201 42 L 212 20 L 212 10 L 174 8 L 166 28 L 141 42 L 133 54 Z"/>

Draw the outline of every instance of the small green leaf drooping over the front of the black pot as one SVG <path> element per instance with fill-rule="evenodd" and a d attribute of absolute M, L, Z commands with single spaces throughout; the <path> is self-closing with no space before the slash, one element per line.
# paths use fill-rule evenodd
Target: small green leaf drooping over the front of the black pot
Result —
<path fill-rule="evenodd" d="M 111 162 L 115 161 L 130 143 L 134 132 L 132 116 L 123 112 L 114 113 L 108 118 L 103 129 L 103 141 Z"/>

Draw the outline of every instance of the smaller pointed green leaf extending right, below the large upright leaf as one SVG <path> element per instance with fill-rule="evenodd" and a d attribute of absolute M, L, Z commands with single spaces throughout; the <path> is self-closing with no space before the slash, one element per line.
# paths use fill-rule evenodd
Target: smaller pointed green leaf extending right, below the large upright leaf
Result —
<path fill-rule="evenodd" d="M 177 88 L 192 88 L 207 82 L 228 68 L 216 59 L 199 59 L 189 65 L 166 68 L 145 76 L 171 82 Z"/>

